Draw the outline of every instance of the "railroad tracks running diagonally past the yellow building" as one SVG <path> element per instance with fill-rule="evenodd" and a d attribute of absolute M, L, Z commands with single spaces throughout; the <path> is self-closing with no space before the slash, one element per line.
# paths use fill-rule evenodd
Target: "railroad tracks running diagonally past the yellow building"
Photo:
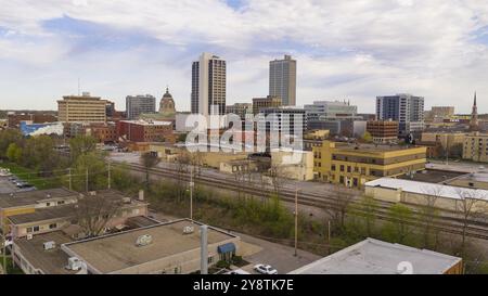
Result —
<path fill-rule="evenodd" d="M 128 164 L 128 166 L 134 171 L 145 172 L 145 168 L 141 165 Z M 165 177 L 169 179 L 180 179 L 181 181 L 185 182 L 190 181 L 190 173 L 181 171 L 178 172 L 176 169 L 170 168 L 160 168 L 160 167 L 153 168 L 151 169 L 151 175 Z M 256 188 L 256 185 L 252 185 L 248 183 L 241 183 L 240 185 L 236 185 L 235 180 L 230 180 L 226 178 L 195 175 L 193 176 L 193 180 L 195 183 L 201 183 L 209 186 L 217 186 L 219 189 L 226 189 L 231 191 L 239 191 L 241 193 L 247 193 L 255 196 L 262 196 L 264 198 L 269 198 L 269 196 L 274 193 L 274 190 L 270 189 L 269 185 L 265 188 Z M 326 195 L 299 192 L 298 204 L 310 207 L 318 207 L 322 209 L 341 210 L 344 206 L 341 205 L 338 201 L 339 198 L 344 197 L 350 198 L 350 202 L 347 205 L 349 209 L 355 210 L 355 213 L 359 215 L 361 214 L 371 215 L 371 213 L 365 211 L 364 208 L 361 206 L 360 204 L 361 195 L 354 194 L 350 192 L 350 190 L 345 190 L 344 192 L 341 193 L 331 191 L 328 192 Z M 287 203 L 295 203 L 295 191 L 290 189 L 282 189 L 280 191 L 280 200 Z M 388 208 L 393 204 L 394 203 L 375 201 L 375 205 L 372 206 L 374 208 L 373 214 L 375 218 L 384 221 L 395 221 L 395 219 L 391 218 L 388 213 Z M 415 207 L 414 205 L 410 206 Z M 432 229 L 445 233 L 462 235 L 463 220 L 461 218 L 452 216 L 454 214 L 453 211 L 445 210 L 444 214 L 450 216 L 439 215 L 438 217 L 435 217 L 435 220 L 431 226 Z M 412 227 L 425 227 L 425 223 L 415 218 L 403 220 L 403 222 Z M 488 240 L 488 223 L 476 220 L 470 220 L 468 227 L 466 227 L 466 236 Z"/>

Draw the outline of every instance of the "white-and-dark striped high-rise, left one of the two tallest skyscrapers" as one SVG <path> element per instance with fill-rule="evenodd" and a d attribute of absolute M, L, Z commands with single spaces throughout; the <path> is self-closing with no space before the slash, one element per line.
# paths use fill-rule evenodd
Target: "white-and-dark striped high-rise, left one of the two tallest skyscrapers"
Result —
<path fill-rule="evenodd" d="M 192 64 L 192 113 L 226 114 L 226 61 L 211 53 L 202 53 Z"/>

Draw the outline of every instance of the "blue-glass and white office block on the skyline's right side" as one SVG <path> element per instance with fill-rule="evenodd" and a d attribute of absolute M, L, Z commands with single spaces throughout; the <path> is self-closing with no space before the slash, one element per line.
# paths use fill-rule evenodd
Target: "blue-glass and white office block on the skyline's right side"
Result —
<path fill-rule="evenodd" d="M 424 127 L 424 98 L 406 93 L 376 96 L 376 118 L 398 121 L 400 136 L 421 131 Z"/>

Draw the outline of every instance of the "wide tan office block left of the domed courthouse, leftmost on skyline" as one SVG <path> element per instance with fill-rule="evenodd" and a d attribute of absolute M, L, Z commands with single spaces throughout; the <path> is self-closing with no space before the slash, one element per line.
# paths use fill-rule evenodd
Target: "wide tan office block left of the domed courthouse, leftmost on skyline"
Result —
<path fill-rule="evenodd" d="M 100 96 L 91 96 L 84 92 L 82 95 L 66 95 L 57 101 L 57 116 L 62 123 L 105 123 L 106 100 Z"/>

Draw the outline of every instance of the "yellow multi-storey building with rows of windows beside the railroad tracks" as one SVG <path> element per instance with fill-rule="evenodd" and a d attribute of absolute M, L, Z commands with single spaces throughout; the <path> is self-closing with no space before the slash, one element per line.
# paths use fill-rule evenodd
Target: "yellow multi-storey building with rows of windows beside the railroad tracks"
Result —
<path fill-rule="evenodd" d="M 313 147 L 317 180 L 362 188 L 368 181 L 425 169 L 426 147 L 323 141 Z"/>

